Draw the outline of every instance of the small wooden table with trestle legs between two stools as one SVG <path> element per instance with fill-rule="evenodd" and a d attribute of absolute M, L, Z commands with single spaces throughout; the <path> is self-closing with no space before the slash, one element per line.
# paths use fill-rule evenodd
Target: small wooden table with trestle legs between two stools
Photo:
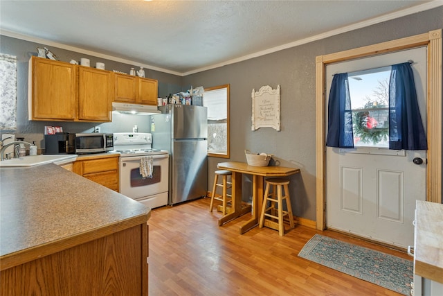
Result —
<path fill-rule="evenodd" d="M 221 162 L 217 164 L 221 170 L 232 171 L 232 195 L 233 202 L 229 214 L 219 219 L 219 225 L 233 220 L 248 211 L 251 207 L 242 207 L 242 174 L 253 176 L 252 180 L 252 218 L 240 227 L 240 234 L 244 234 L 249 229 L 258 225 L 260 209 L 262 209 L 264 193 L 264 177 L 286 177 L 300 173 L 299 168 L 286 168 L 284 166 L 249 166 L 245 162 Z"/>

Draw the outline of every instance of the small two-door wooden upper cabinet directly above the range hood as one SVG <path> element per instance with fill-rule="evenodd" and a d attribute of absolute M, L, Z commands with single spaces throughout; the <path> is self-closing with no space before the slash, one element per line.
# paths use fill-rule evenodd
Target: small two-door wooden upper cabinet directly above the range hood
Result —
<path fill-rule="evenodd" d="M 157 105 L 157 80 L 114 73 L 114 102 Z"/>

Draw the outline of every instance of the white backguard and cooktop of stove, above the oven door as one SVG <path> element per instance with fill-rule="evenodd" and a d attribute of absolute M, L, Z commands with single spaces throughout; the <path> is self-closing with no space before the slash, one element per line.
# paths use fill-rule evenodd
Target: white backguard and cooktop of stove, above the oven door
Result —
<path fill-rule="evenodd" d="M 152 135 L 147 132 L 114 132 L 114 150 L 120 157 L 169 154 L 152 148 Z"/>

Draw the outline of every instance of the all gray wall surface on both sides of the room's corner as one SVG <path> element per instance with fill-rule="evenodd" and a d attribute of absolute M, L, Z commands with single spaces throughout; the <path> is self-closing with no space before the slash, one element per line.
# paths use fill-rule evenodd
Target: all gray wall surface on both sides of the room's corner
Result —
<path fill-rule="evenodd" d="M 213 171 L 218 162 L 226 160 L 246 161 L 244 150 L 273 153 L 282 166 L 296 166 L 301 173 L 290 177 L 290 194 L 296 216 L 316 220 L 316 92 L 315 58 L 346 49 L 395 40 L 443 28 L 443 8 L 435 8 L 402 17 L 382 24 L 361 28 L 324 40 L 311 42 L 291 49 L 271 53 L 259 58 L 230 64 L 225 67 L 196 73 L 184 78 L 146 69 L 146 76 L 159 80 L 159 96 L 189 89 L 190 85 L 213 87 L 230 84 L 230 159 L 209 158 L 208 188 L 212 188 Z M 296 28 L 294 28 L 296 30 Z M 10 37 L 0 36 L 0 51 L 17 55 L 17 134 L 37 137 L 44 125 L 51 122 L 28 121 L 27 88 L 28 60 L 36 54 L 35 44 Z M 110 60 L 98 60 L 80 53 L 62 49 L 51 50 L 60 60 L 90 58 L 91 64 L 105 62 L 107 69 L 129 72 L 131 65 Z M 280 132 L 272 128 L 251 131 L 251 92 L 269 85 L 281 87 Z M 139 131 L 148 132 L 143 116 L 114 117 L 113 123 L 100 125 L 103 132 L 132 130 L 137 124 Z M 69 132 L 88 131 L 93 123 L 60 123 Z M 1 131 L 5 132 L 5 131 Z M 28 139 L 33 141 L 33 139 Z M 244 198 L 251 195 L 251 178 L 244 177 Z"/>

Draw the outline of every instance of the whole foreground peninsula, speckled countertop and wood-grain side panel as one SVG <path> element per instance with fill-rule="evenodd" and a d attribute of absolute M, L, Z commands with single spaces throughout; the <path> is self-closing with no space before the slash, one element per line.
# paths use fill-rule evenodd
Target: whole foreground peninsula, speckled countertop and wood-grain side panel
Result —
<path fill-rule="evenodd" d="M 0 295 L 147 295 L 151 210 L 56 164 L 0 168 Z"/>

